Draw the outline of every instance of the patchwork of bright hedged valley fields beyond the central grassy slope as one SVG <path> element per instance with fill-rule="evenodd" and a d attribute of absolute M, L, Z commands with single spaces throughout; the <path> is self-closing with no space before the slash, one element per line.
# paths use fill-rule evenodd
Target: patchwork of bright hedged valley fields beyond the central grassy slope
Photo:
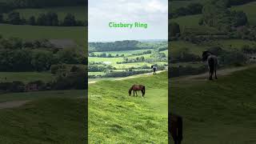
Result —
<path fill-rule="evenodd" d="M 166 42 L 138 42 L 138 49 L 135 50 L 116 50 L 116 51 L 101 51 L 90 52 L 90 57 L 88 58 L 91 68 L 94 70 L 89 71 L 90 78 L 94 76 L 102 75 L 102 78 L 105 76 L 106 69 L 110 73 L 113 71 L 126 71 L 133 70 L 138 71 L 138 73 L 147 73 L 150 70 L 150 66 L 167 66 L 168 50 Z M 152 47 L 149 49 L 149 47 Z M 142 49 L 144 48 L 144 49 Z M 146 54 L 144 52 L 150 50 L 151 54 Z M 162 51 L 159 51 L 162 50 Z M 144 54 L 143 54 L 144 53 Z M 162 54 L 161 54 L 162 53 Z M 92 57 L 94 54 L 94 57 Z M 109 58 L 102 58 L 101 54 L 106 54 Z M 111 58 L 109 56 L 111 54 Z M 117 55 L 118 54 L 118 55 Z M 137 55 L 136 55 L 137 54 Z M 94 63 L 97 62 L 97 63 Z M 99 63 L 100 62 L 100 63 Z M 102 64 L 103 63 L 103 64 Z M 95 69 L 95 66 L 105 66 L 106 69 Z M 111 66 L 111 67 L 110 67 Z M 161 68 L 162 70 L 163 68 Z M 93 72 L 94 71 L 94 72 Z M 119 73 L 120 74 L 120 73 Z M 125 76 L 125 73 L 123 73 Z M 98 78 L 98 77 L 97 77 Z"/>

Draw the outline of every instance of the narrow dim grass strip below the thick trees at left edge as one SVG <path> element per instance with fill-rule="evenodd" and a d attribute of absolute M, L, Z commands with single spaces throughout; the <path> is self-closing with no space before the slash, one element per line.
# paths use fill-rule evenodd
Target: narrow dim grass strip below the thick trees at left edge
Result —
<path fill-rule="evenodd" d="M 27 83 L 37 80 L 50 82 L 53 79 L 54 75 L 46 72 L 0 72 L 0 82 L 21 81 Z"/>

